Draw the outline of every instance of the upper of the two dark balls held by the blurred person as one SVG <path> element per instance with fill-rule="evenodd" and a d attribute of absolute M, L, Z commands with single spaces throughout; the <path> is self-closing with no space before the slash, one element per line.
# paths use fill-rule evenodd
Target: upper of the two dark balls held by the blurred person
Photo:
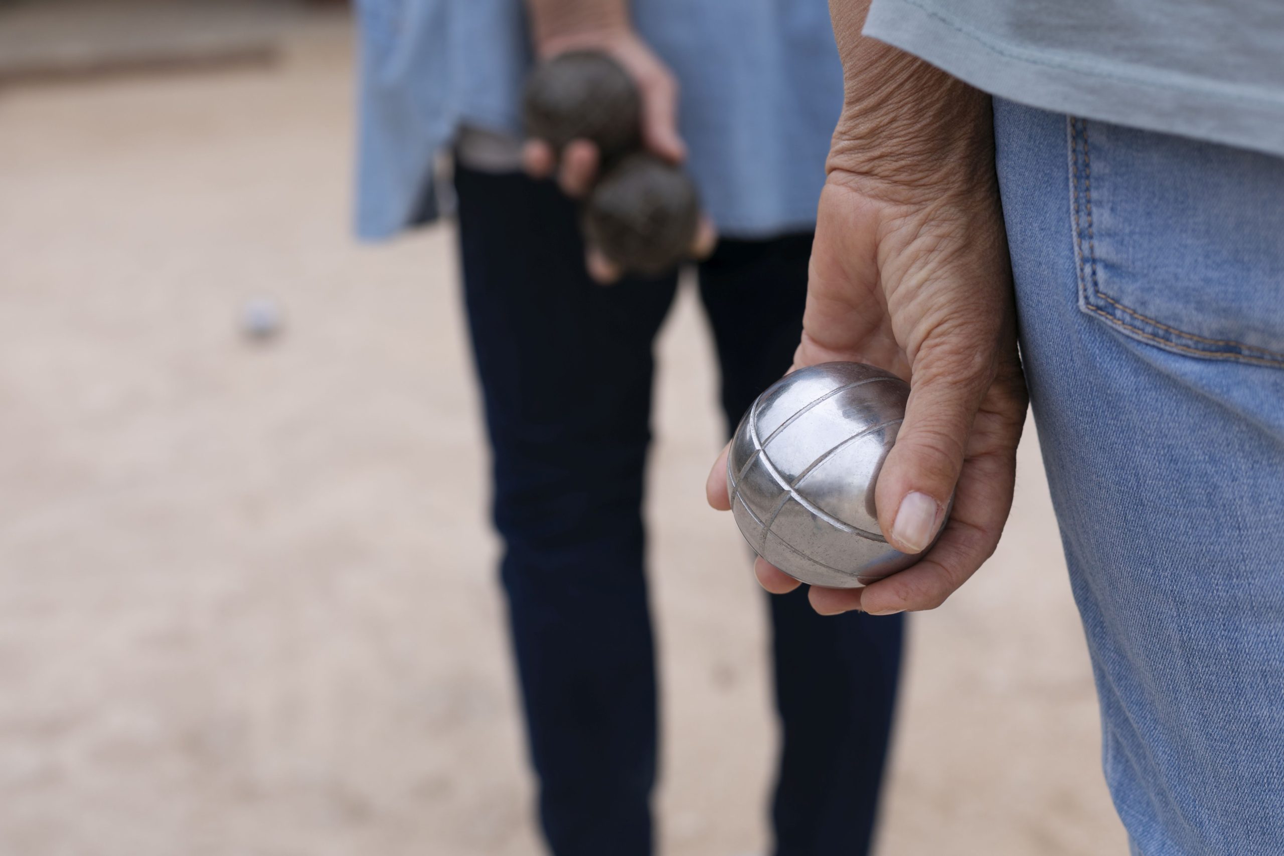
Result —
<path fill-rule="evenodd" d="M 570 51 L 537 65 L 526 80 L 523 113 L 526 135 L 556 151 L 584 139 L 610 163 L 641 146 L 642 96 L 628 72 L 598 51 Z"/>

